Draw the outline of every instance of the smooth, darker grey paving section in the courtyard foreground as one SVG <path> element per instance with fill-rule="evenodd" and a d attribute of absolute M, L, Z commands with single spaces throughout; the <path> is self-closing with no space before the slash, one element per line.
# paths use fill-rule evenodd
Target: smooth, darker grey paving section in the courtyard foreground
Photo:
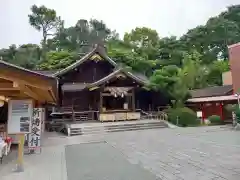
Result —
<path fill-rule="evenodd" d="M 161 180 L 106 142 L 66 146 L 66 164 L 68 180 Z"/>

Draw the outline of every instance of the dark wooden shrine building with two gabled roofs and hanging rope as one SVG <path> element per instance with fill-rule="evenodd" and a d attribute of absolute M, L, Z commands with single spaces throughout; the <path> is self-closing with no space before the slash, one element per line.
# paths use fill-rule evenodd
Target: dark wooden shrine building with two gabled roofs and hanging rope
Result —
<path fill-rule="evenodd" d="M 78 113 L 80 120 L 139 119 L 140 111 L 168 103 L 161 93 L 144 88 L 149 83 L 145 76 L 120 67 L 101 45 L 54 76 L 59 79 L 59 111 Z"/>

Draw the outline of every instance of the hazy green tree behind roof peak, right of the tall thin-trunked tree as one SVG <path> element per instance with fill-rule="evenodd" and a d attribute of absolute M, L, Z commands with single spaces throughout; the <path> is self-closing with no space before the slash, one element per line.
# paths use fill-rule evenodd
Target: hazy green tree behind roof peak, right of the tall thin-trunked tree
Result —
<path fill-rule="evenodd" d="M 69 28 L 62 24 L 56 35 L 48 40 L 47 46 L 54 51 L 67 50 L 85 54 L 94 44 L 103 44 L 115 36 L 117 34 L 112 33 L 103 21 L 80 19 L 75 26 Z"/>

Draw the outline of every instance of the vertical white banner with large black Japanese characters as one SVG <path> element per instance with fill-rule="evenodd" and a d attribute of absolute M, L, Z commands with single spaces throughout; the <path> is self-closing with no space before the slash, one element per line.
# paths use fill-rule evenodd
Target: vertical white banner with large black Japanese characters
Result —
<path fill-rule="evenodd" d="M 28 137 L 28 148 L 31 152 L 36 152 L 36 150 L 41 148 L 42 111 L 42 108 L 33 108 L 31 132 Z"/>

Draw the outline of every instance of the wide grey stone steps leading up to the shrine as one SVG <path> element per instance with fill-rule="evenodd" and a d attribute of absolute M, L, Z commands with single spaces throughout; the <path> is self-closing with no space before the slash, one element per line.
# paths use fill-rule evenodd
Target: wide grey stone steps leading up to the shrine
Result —
<path fill-rule="evenodd" d="M 116 122 L 114 123 L 95 123 L 94 125 L 82 125 L 77 127 L 75 125 L 69 126 L 67 132 L 68 136 L 73 135 L 86 135 L 86 134 L 101 134 L 110 132 L 120 131 L 135 131 L 135 130 L 146 130 L 146 129 L 158 129 L 166 128 L 168 125 L 164 121 L 153 121 L 153 120 L 138 120 L 132 122 Z"/>

